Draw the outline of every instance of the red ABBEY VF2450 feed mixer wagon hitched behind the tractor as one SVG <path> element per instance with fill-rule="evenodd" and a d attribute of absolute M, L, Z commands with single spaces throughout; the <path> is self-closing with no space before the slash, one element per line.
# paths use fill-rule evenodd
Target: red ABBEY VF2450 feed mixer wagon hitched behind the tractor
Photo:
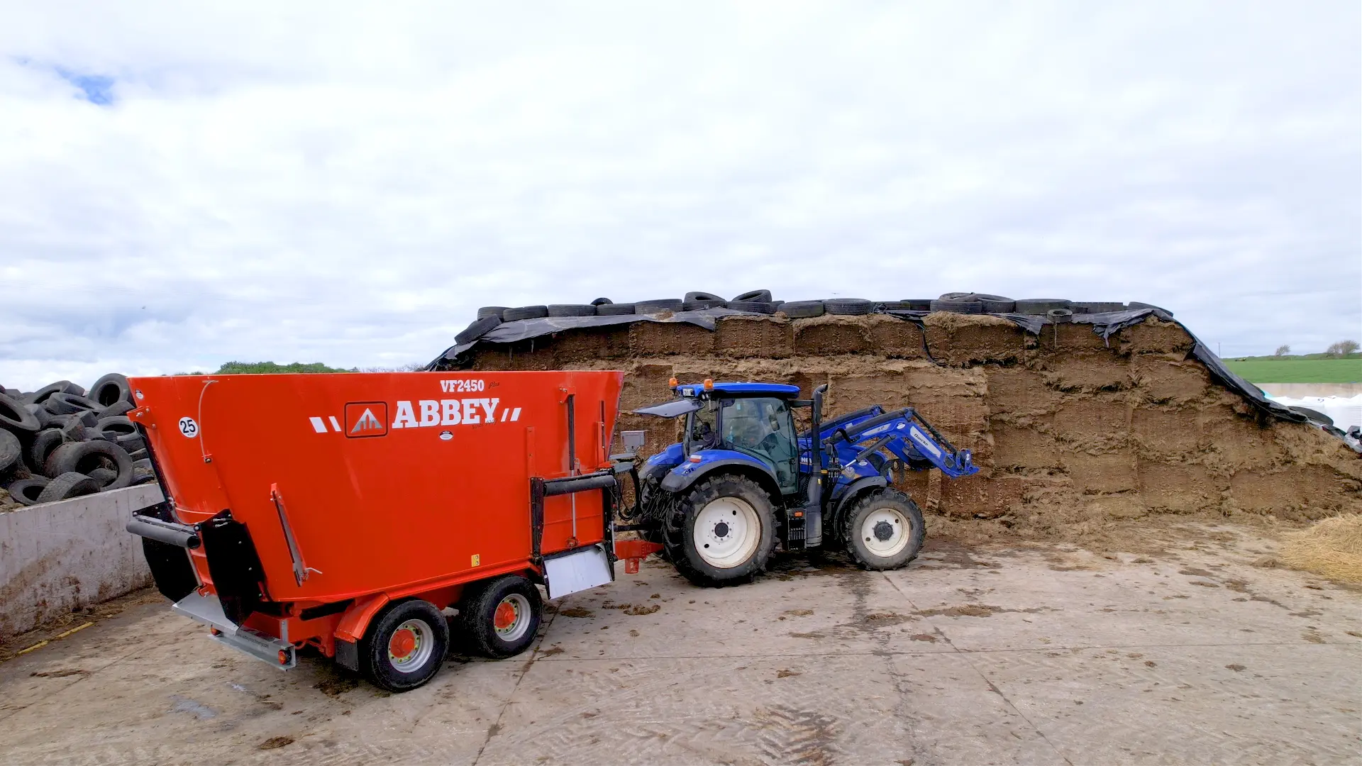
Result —
<path fill-rule="evenodd" d="M 621 372 L 133 378 L 166 500 L 128 532 L 158 589 L 278 668 L 313 647 L 391 691 L 455 634 L 509 657 L 550 598 L 614 578 Z"/>

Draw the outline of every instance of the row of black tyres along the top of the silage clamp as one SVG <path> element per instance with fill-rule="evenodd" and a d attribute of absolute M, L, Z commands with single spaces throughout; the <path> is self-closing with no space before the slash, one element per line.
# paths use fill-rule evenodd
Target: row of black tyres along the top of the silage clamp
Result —
<path fill-rule="evenodd" d="M 731 300 L 723 300 L 714 293 L 686 293 L 684 298 L 656 298 L 635 303 L 614 303 L 610 298 L 597 298 L 590 304 L 546 304 L 546 305 L 485 305 L 478 309 L 478 318 L 462 333 L 455 335 L 459 345 L 471 343 L 486 335 L 498 324 L 522 319 L 543 319 L 550 316 L 620 316 L 631 313 L 662 313 L 678 311 L 700 311 L 706 308 L 731 308 L 748 313 L 780 313 L 789 319 L 810 319 L 834 315 L 864 315 L 877 311 L 948 311 L 955 313 L 1034 313 L 1049 316 L 1054 322 L 1066 322 L 1075 313 L 1103 313 L 1125 311 L 1126 308 L 1158 308 L 1151 304 L 1129 305 L 1117 301 L 1069 301 L 1061 298 L 1012 300 L 986 293 L 945 293 L 932 298 L 872 301 L 864 298 L 825 298 L 816 301 L 778 301 L 771 298 L 771 290 L 752 290 Z M 1171 313 L 1171 312 L 1170 312 Z"/>

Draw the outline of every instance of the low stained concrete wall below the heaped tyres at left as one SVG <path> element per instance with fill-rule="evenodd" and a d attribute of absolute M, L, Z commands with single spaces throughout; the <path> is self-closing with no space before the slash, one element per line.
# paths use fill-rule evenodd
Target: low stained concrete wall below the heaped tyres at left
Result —
<path fill-rule="evenodd" d="M 151 585 L 124 525 L 161 499 L 143 484 L 0 514 L 0 635 Z"/>

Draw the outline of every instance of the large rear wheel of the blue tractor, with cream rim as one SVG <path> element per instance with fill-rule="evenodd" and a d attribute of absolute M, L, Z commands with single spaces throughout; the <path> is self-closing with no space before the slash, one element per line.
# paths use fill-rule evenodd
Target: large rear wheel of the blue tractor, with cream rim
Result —
<path fill-rule="evenodd" d="M 775 549 L 775 511 L 740 474 L 701 480 L 663 522 L 667 556 L 696 585 L 750 582 Z"/>

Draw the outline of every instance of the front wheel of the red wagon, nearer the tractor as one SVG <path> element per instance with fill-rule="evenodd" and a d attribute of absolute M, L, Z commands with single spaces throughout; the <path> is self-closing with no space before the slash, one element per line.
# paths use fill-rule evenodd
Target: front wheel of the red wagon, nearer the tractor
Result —
<path fill-rule="evenodd" d="M 534 643 L 543 615 L 539 589 L 520 575 L 470 586 L 459 601 L 460 638 L 469 652 L 503 660 Z"/>

